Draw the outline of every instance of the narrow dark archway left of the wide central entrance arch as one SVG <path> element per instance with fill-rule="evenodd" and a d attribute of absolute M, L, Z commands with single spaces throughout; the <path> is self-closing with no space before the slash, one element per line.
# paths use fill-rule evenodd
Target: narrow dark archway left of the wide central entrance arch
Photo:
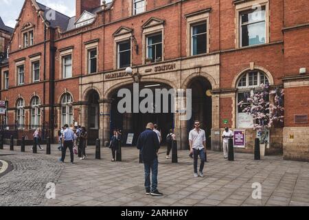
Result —
<path fill-rule="evenodd" d="M 95 144 L 95 140 L 99 137 L 100 129 L 100 95 L 97 91 L 92 89 L 88 94 L 88 144 Z"/>

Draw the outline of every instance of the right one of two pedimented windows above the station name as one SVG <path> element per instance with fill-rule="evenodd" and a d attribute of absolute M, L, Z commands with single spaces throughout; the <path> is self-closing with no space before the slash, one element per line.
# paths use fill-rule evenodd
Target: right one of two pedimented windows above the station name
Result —
<path fill-rule="evenodd" d="M 147 37 L 147 58 L 152 63 L 162 61 L 162 34 Z"/>

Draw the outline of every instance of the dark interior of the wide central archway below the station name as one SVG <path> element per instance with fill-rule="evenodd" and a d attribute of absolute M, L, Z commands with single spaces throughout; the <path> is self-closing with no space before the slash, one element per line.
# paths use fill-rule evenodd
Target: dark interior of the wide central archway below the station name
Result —
<path fill-rule="evenodd" d="M 133 85 L 128 85 L 125 87 L 126 89 L 130 89 L 133 100 Z M 155 109 L 155 89 L 171 89 L 168 85 L 164 85 L 162 83 L 144 83 L 139 84 L 139 91 L 141 89 L 151 89 L 152 94 L 154 94 L 154 102 L 152 103 L 152 107 Z M 162 135 L 162 144 L 165 144 L 165 137 L 168 135 L 170 129 L 174 129 L 174 114 L 171 111 L 171 96 L 168 98 L 168 113 L 163 113 L 163 96 L 161 96 L 161 113 L 119 113 L 117 106 L 122 98 L 117 97 L 117 91 L 113 94 L 113 103 L 111 106 L 111 135 L 113 129 L 121 129 L 123 132 L 123 142 L 126 143 L 126 139 L 128 137 L 128 133 L 134 133 L 133 145 L 136 145 L 137 138 L 140 133 L 145 131 L 146 124 L 148 122 L 153 122 L 158 124 L 159 130 Z M 144 98 L 139 98 L 139 103 Z M 132 101 L 133 102 L 133 101 Z M 133 107 L 132 111 L 133 112 Z"/>

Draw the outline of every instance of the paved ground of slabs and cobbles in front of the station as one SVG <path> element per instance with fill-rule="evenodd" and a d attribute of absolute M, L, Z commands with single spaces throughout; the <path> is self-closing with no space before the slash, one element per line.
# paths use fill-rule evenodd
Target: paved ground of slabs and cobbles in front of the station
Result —
<path fill-rule="evenodd" d="M 144 195 L 144 167 L 135 148 L 124 148 L 123 162 L 112 163 L 108 148 L 95 160 L 89 147 L 89 159 L 74 165 L 57 162 L 56 146 L 52 155 L 32 155 L 30 146 L 26 153 L 8 150 L 0 151 L 0 159 L 14 170 L 0 177 L 0 206 L 309 206 L 309 164 L 277 156 L 254 161 L 253 155 L 236 154 L 228 162 L 222 153 L 209 152 L 205 177 L 193 178 L 188 151 L 171 164 L 162 150 L 159 190 L 165 196 L 150 197 Z M 56 184 L 56 199 L 45 198 L 49 182 Z M 252 198 L 255 182 L 262 184 L 262 199 Z"/>

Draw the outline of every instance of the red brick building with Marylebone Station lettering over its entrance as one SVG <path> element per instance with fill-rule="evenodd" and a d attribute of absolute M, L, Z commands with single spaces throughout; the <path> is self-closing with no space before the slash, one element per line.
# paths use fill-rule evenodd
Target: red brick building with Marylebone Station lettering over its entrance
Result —
<path fill-rule="evenodd" d="M 212 150 L 230 126 L 246 133 L 237 151 L 252 153 L 257 134 L 237 104 L 269 83 L 285 89 L 286 112 L 266 154 L 308 161 L 308 9 L 306 0 L 77 0 L 70 18 L 26 0 L 10 41 L 9 88 L 1 87 L 9 129 L 21 138 L 45 124 L 55 137 L 78 122 L 106 142 L 113 128 L 136 137 L 153 121 L 163 135 L 174 128 L 186 149 L 198 119 Z M 129 66 L 140 87 L 192 89 L 192 119 L 117 112 L 117 91 L 133 89 Z"/>

